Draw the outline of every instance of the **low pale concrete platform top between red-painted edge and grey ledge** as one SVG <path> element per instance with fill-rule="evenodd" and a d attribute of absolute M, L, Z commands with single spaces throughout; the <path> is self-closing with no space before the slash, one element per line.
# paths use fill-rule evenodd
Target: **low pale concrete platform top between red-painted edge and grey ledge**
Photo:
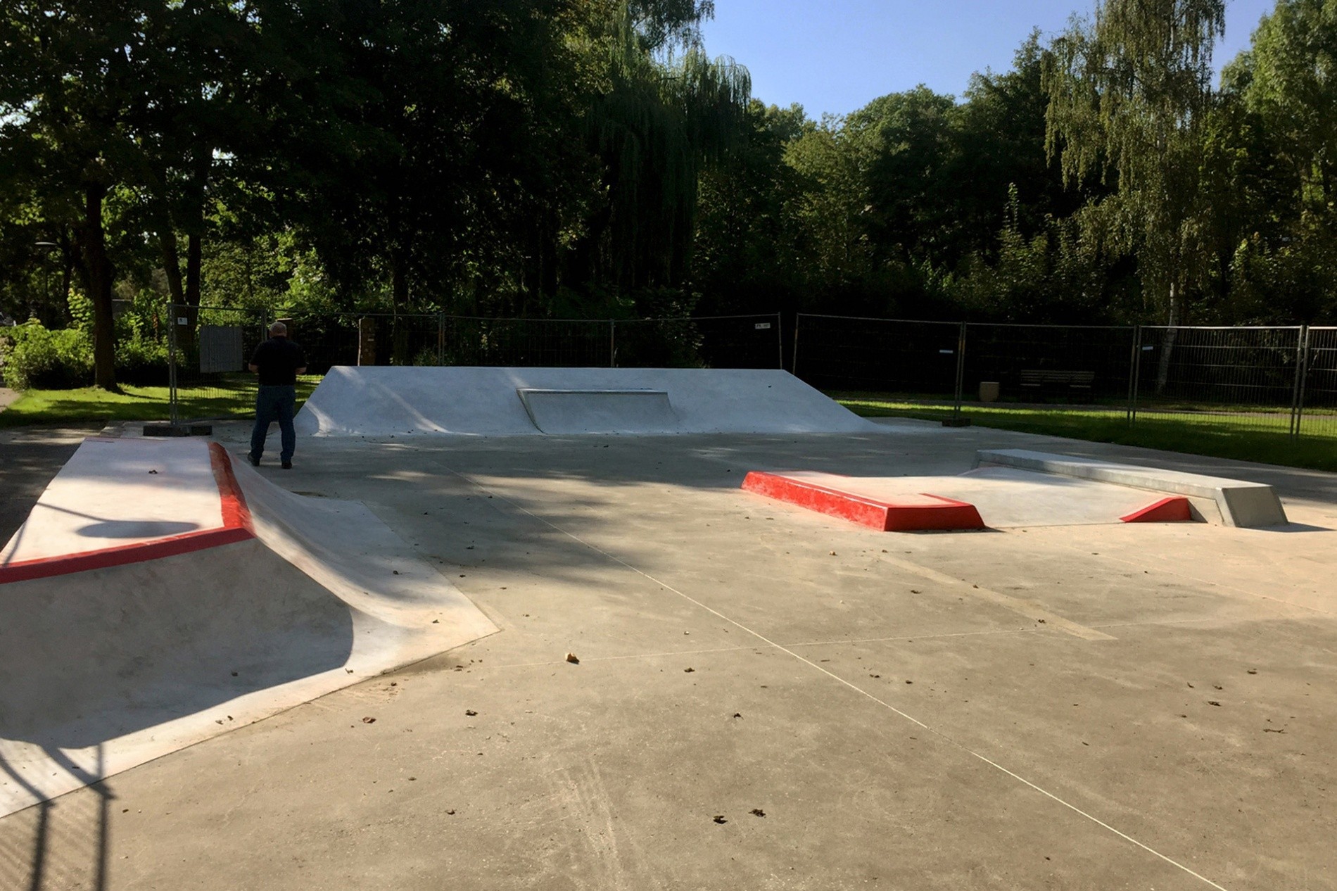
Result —
<path fill-rule="evenodd" d="M 1126 486 L 1009 467 L 981 467 L 959 476 L 842 476 L 820 471 L 779 475 L 890 504 L 923 506 L 935 498 L 964 502 L 973 504 L 992 528 L 1118 523 L 1159 500 Z"/>

